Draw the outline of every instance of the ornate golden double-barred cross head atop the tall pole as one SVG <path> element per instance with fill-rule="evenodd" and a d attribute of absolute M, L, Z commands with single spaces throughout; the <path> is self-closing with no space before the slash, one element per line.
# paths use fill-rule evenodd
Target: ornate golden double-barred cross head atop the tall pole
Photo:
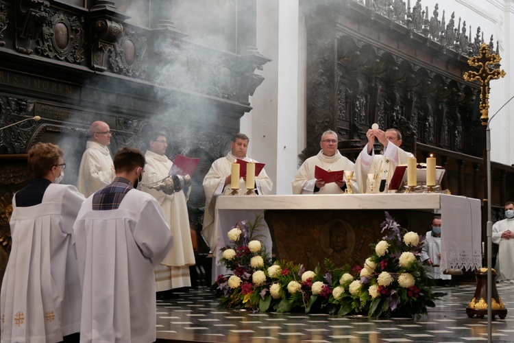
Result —
<path fill-rule="evenodd" d="M 489 46 L 485 43 L 480 45 L 480 56 L 473 56 L 467 60 L 467 64 L 472 67 L 479 67 L 480 71 L 467 71 L 464 73 L 466 81 L 480 81 L 480 120 L 486 126 L 489 121 L 489 81 L 505 76 L 505 71 L 493 69 L 493 64 L 500 62 L 502 58 L 498 54 L 489 54 Z"/>

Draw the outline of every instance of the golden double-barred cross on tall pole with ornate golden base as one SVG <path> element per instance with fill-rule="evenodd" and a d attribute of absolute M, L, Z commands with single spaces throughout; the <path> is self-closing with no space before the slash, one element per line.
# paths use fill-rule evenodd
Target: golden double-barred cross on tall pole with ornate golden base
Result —
<path fill-rule="evenodd" d="M 487 268 L 480 268 L 476 272 L 477 276 L 477 287 L 473 300 L 469 303 L 466 314 L 469 317 L 473 317 L 475 314 L 482 317 L 487 314 L 487 333 L 488 340 L 491 342 L 491 319 L 492 316 L 498 314 L 500 318 L 505 318 L 507 310 L 503 305 L 496 285 L 492 281 L 492 224 L 491 224 L 491 136 L 489 131 L 489 81 L 502 78 L 505 75 L 505 71 L 498 68 L 498 63 L 502 58 L 498 54 L 489 54 L 489 46 L 482 43 L 480 46 L 479 56 L 469 58 L 467 63 L 471 67 L 480 68 L 478 72 L 468 71 L 464 73 L 464 79 L 467 81 L 478 80 L 480 82 L 480 121 L 482 121 L 482 127 L 484 128 L 485 134 L 485 147 L 483 151 L 484 167 L 487 171 L 487 180 L 485 182 L 486 189 L 485 195 L 487 198 L 484 199 L 484 206 L 487 204 Z M 486 174 L 484 174 L 486 175 Z M 485 287 L 485 276 L 487 274 L 487 287 Z M 484 287 L 486 289 L 484 289 Z M 487 290 L 487 292 L 486 292 Z M 493 291 L 495 294 L 493 294 Z M 484 296 L 487 293 L 487 303 L 485 303 Z"/>

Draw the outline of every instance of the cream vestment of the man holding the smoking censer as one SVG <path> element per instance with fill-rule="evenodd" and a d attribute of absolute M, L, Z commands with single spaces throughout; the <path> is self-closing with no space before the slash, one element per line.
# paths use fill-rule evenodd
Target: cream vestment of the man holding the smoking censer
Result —
<path fill-rule="evenodd" d="M 168 176 L 173 162 L 167 156 L 147 150 L 145 158 L 147 164 L 143 173 L 143 182 L 156 182 Z M 156 290 L 165 291 L 191 286 L 189 265 L 195 265 L 195 252 L 193 252 L 187 212 L 187 198 L 191 193 L 191 187 L 186 189 L 187 195 L 184 194 L 184 189 L 171 195 L 147 187 L 142 187 L 141 190 L 154 196 L 160 204 L 175 242 L 168 255 L 156 267 Z"/>

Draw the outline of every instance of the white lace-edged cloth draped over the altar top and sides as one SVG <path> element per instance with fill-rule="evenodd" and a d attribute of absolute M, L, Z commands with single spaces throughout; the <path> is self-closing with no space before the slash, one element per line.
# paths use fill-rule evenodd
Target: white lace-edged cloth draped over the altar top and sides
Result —
<path fill-rule="evenodd" d="M 442 193 L 327 194 L 291 196 L 219 196 L 215 209 L 217 249 L 230 245 L 228 231 L 241 220 L 253 221 L 263 210 L 441 210 L 441 268 L 475 269 L 482 266 L 480 200 Z M 271 254 L 271 234 L 267 224 L 260 234 Z M 219 263 L 221 253 L 213 252 L 212 280 L 229 273 Z"/>

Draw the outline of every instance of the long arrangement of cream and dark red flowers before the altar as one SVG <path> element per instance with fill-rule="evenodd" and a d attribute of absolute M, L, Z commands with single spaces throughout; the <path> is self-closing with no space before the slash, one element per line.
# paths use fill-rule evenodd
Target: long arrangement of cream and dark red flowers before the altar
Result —
<path fill-rule="evenodd" d="M 384 237 L 371 244 L 373 253 L 363 263 L 336 268 L 326 259 L 326 272 L 304 270 L 302 264 L 275 261 L 258 241 L 258 223 L 239 222 L 228 237 L 233 246 L 223 248 L 221 263 L 233 275 L 220 275 L 213 285 L 221 306 L 259 311 L 317 311 L 345 316 L 414 316 L 435 307 L 443 293 L 432 292 L 433 279 L 419 263 L 423 240 L 407 232 L 385 213 Z"/>

